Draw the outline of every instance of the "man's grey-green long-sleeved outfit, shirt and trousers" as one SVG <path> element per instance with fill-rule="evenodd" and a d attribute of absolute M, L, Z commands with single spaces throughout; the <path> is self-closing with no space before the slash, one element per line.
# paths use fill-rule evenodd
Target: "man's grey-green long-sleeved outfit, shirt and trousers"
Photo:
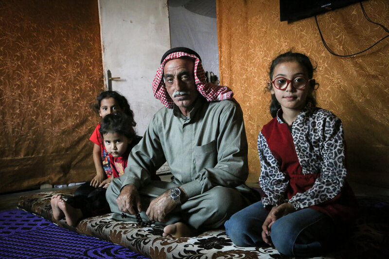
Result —
<path fill-rule="evenodd" d="M 149 203 L 164 191 L 181 186 L 188 200 L 168 216 L 167 224 L 178 221 L 195 228 L 217 228 L 236 211 L 247 206 L 241 192 L 248 176 L 248 145 L 242 110 L 232 101 L 208 103 L 198 97 L 189 117 L 175 105 L 161 108 L 152 118 L 144 137 L 135 146 L 124 175 L 115 178 L 106 198 L 115 218 L 121 219 L 116 198 L 133 184 L 139 190 L 142 218 Z M 165 161 L 172 181 L 151 180 Z"/>

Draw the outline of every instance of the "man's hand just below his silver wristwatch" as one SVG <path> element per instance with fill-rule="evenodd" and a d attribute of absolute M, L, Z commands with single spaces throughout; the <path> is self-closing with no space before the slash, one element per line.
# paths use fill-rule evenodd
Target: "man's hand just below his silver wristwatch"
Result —
<path fill-rule="evenodd" d="M 146 215 L 150 220 L 165 223 L 167 221 L 166 215 L 175 207 L 177 207 L 177 204 L 174 202 L 172 197 L 170 197 L 169 189 L 151 201 L 146 210 Z"/>

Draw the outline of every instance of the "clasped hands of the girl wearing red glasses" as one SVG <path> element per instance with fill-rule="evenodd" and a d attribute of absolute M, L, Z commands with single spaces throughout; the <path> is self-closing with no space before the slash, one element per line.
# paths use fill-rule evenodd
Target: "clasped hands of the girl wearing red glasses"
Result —
<path fill-rule="evenodd" d="M 267 215 L 264 224 L 262 225 L 262 239 L 268 245 L 273 245 L 270 240 L 271 225 L 283 216 L 295 212 L 296 209 L 291 203 L 283 203 L 278 207 L 272 207 Z"/>

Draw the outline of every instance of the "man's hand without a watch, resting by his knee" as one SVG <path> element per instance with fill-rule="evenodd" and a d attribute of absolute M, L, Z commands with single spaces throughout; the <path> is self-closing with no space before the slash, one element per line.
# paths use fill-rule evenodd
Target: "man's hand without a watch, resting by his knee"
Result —
<path fill-rule="evenodd" d="M 128 184 L 123 187 L 120 191 L 116 203 L 120 211 L 135 215 L 136 211 L 133 206 L 138 208 L 138 211 L 141 212 L 141 199 L 139 197 L 138 190 L 133 184 Z"/>

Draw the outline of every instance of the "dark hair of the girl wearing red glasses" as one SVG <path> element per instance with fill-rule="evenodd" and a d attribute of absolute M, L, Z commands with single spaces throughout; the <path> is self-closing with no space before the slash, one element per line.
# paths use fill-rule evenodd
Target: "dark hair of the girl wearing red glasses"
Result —
<path fill-rule="evenodd" d="M 269 71 L 269 77 L 270 81 L 273 81 L 273 73 L 275 67 L 283 62 L 297 62 L 299 63 L 302 67 L 304 67 L 308 73 L 308 79 L 313 78 L 313 72 L 315 71 L 316 68 L 313 68 L 311 60 L 309 60 L 309 57 L 307 57 L 304 54 L 298 53 L 298 52 L 286 52 L 275 59 L 271 62 L 270 65 L 270 71 Z M 318 84 L 315 84 L 318 85 Z M 315 86 L 313 86 L 315 87 Z M 273 84 L 270 83 L 268 86 L 267 90 L 271 90 L 273 88 Z M 307 96 L 307 103 L 312 103 L 314 106 L 316 106 L 316 97 L 314 91 L 311 92 L 311 94 L 308 94 Z M 270 102 L 270 114 L 274 118 L 277 116 L 277 111 L 281 108 L 281 104 L 277 101 L 276 96 L 274 94 L 271 95 L 271 102 Z"/>

